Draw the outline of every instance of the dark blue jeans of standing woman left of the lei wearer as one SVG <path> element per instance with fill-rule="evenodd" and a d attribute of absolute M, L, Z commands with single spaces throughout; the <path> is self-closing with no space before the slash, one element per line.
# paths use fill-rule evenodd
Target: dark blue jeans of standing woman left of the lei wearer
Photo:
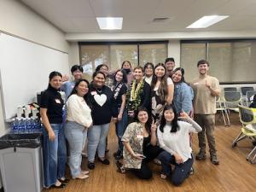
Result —
<path fill-rule="evenodd" d="M 128 125 L 128 115 L 127 115 L 127 111 L 124 110 L 122 119 L 119 120 L 115 124 L 116 136 L 119 139 L 119 148 L 118 148 L 118 150 L 121 152 L 121 154 L 123 154 L 123 148 L 124 148 L 124 145 L 123 145 L 123 142 L 121 141 L 121 139 L 122 139 L 122 137 L 125 133 L 127 125 Z"/>

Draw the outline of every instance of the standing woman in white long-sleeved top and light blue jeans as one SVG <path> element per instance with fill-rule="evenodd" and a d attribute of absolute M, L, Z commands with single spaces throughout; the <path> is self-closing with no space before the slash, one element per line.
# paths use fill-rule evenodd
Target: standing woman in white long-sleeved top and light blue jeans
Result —
<path fill-rule="evenodd" d="M 79 79 L 67 100 L 67 123 L 65 136 L 69 144 L 68 165 L 73 178 L 89 177 L 87 171 L 81 171 L 82 150 L 87 137 L 87 129 L 92 125 L 90 108 L 85 102 L 89 82 Z"/>

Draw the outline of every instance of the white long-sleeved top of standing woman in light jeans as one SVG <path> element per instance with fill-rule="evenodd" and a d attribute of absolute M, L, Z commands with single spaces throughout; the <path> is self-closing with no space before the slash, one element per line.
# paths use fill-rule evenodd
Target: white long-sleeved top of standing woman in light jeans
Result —
<path fill-rule="evenodd" d="M 89 127 L 92 124 L 90 108 L 84 98 L 73 94 L 67 99 L 67 120 Z"/>

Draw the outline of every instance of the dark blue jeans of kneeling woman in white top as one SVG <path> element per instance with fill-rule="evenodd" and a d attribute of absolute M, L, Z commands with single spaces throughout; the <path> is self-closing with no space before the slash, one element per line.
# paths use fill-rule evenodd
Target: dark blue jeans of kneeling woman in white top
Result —
<path fill-rule="evenodd" d="M 189 177 L 189 171 L 194 162 L 192 154 L 191 157 L 191 159 L 186 160 L 183 164 L 177 164 L 175 157 L 172 154 L 163 151 L 158 156 L 158 159 L 162 164 L 161 172 L 167 177 L 171 177 L 171 181 L 174 185 L 180 185 L 187 177 Z M 173 172 L 170 164 L 175 166 Z"/>

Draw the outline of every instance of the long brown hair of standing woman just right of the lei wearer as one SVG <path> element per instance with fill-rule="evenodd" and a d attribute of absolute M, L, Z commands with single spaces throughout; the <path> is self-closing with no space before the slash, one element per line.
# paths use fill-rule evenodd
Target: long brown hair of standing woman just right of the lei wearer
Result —
<path fill-rule="evenodd" d="M 159 95 L 160 95 L 160 100 L 161 101 L 166 101 L 166 97 L 168 95 L 168 88 L 167 88 L 167 76 L 166 76 L 166 67 L 165 67 L 165 64 L 164 63 L 158 63 L 155 67 L 154 67 L 154 72 L 155 72 L 155 69 L 157 67 L 164 67 L 165 69 L 165 74 L 164 76 L 162 77 L 161 79 L 161 83 L 160 83 L 160 86 L 159 86 L 159 89 L 157 90 Z M 153 73 L 153 79 L 152 79 L 152 82 L 151 82 L 151 90 L 154 90 L 154 86 L 157 82 L 157 77 L 156 75 Z"/>

